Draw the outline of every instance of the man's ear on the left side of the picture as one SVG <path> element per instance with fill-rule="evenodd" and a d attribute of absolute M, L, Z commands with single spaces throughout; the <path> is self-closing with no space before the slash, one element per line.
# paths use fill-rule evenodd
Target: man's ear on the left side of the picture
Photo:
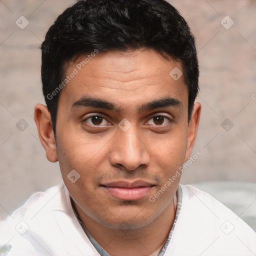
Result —
<path fill-rule="evenodd" d="M 41 144 L 45 150 L 46 157 L 50 162 L 58 160 L 56 143 L 52 129 L 52 123 L 48 108 L 43 104 L 36 104 L 34 107 L 34 121 Z"/>

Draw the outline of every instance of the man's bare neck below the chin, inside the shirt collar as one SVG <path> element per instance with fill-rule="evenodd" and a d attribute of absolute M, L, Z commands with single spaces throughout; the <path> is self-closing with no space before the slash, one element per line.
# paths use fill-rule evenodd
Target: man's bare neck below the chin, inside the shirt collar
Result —
<path fill-rule="evenodd" d="M 111 256 L 157 255 L 168 238 L 175 218 L 173 200 L 153 221 L 139 228 L 112 228 L 89 217 L 75 202 L 73 208 L 82 225 Z"/>

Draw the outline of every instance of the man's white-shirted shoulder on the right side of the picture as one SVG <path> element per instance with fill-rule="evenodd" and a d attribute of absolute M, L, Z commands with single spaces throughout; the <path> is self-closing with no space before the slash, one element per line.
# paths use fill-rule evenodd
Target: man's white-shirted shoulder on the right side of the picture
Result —
<path fill-rule="evenodd" d="M 255 232 L 234 212 L 194 186 L 181 184 L 180 187 L 182 203 L 170 241 L 176 244 L 177 252 L 189 255 L 193 248 L 193 253 L 198 255 L 256 253 Z"/>

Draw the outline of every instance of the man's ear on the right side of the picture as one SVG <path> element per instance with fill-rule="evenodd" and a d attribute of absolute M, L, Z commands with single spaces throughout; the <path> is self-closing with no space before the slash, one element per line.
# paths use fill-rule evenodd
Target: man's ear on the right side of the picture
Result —
<path fill-rule="evenodd" d="M 184 162 L 188 160 L 194 146 L 196 133 L 199 126 L 200 113 L 201 113 L 201 104 L 199 102 L 195 102 L 193 107 L 193 112 L 191 114 L 191 118 L 188 124 L 186 154 L 185 154 Z"/>

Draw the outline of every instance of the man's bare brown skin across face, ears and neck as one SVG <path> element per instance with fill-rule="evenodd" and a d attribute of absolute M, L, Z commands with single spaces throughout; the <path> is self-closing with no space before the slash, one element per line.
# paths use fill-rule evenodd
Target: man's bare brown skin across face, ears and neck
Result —
<path fill-rule="evenodd" d="M 67 63 L 66 74 L 82 60 L 79 56 Z M 182 70 L 179 62 L 152 49 L 97 53 L 60 92 L 56 143 L 46 106 L 35 106 L 47 159 L 59 161 L 82 222 L 110 255 L 157 255 L 172 226 L 180 177 L 154 202 L 149 197 L 189 158 L 200 116 L 196 102 L 188 125 L 188 90 L 182 76 L 175 81 L 169 75 L 174 67 Z M 72 107 L 82 97 L 111 102 L 116 109 L 78 103 Z M 166 97 L 181 104 L 141 107 Z M 91 115 L 103 119 L 96 122 Z M 131 125 L 126 131 L 118 126 L 123 118 Z M 72 169 L 80 175 L 74 183 L 67 178 Z M 118 180 L 142 180 L 151 186 L 140 199 L 122 200 L 102 186 Z"/>

